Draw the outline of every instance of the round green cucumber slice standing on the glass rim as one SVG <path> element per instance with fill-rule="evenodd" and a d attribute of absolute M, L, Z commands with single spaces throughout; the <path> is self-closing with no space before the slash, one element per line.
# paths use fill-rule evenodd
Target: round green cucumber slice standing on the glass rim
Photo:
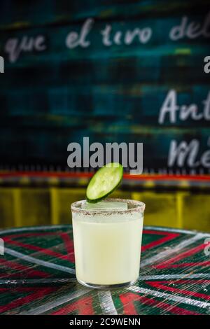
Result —
<path fill-rule="evenodd" d="M 118 162 L 108 163 L 100 168 L 87 186 L 86 200 L 96 203 L 105 199 L 116 190 L 123 179 L 123 166 Z"/>

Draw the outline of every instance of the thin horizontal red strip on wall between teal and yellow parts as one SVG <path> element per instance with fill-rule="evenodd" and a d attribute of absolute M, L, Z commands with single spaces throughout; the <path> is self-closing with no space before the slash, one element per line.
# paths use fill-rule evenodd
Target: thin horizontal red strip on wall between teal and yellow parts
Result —
<path fill-rule="evenodd" d="M 57 178 L 64 178 L 64 179 L 83 179 L 83 178 L 90 178 L 92 177 L 92 173 L 90 172 L 1 172 L 0 178 L 6 177 L 22 177 L 27 176 L 29 178 L 32 177 L 43 177 L 43 178 L 50 178 L 50 177 L 57 177 Z M 147 181 L 147 180 L 155 180 L 155 181 L 210 181 L 209 175 L 160 175 L 160 174 L 142 174 L 142 175 L 130 175 L 124 174 L 124 179 L 128 180 L 136 180 L 136 181 Z"/>

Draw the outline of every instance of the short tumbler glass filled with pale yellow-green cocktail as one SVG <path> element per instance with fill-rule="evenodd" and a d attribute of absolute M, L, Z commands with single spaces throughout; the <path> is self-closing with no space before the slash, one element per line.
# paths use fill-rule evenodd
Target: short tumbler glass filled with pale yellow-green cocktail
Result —
<path fill-rule="evenodd" d="M 83 209 L 71 204 L 78 282 L 90 288 L 129 286 L 139 277 L 145 204 L 107 199 L 107 208 Z M 127 210 L 109 209 L 109 202 L 127 202 Z"/>

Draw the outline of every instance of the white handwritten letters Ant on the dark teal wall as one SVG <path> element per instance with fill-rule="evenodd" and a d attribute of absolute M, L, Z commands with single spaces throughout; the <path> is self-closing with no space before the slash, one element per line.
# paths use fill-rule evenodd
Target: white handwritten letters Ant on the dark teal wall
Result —
<path fill-rule="evenodd" d="M 170 123 L 176 123 L 177 119 L 185 121 L 188 118 L 192 120 L 210 120 L 210 91 L 207 95 L 207 99 L 204 99 L 202 102 L 204 104 L 203 111 L 199 113 L 199 108 L 197 104 L 186 105 L 183 104 L 179 106 L 177 103 L 177 94 L 176 90 L 169 90 L 167 97 L 163 102 L 158 123 L 162 125 L 165 122 L 165 118 L 168 116 Z M 178 114 L 179 113 L 179 114 Z"/>

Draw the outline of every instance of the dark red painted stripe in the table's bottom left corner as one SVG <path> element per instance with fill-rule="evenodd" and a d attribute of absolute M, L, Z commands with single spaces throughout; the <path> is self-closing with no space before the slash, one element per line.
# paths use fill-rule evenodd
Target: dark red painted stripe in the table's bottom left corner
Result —
<path fill-rule="evenodd" d="M 35 293 L 30 293 L 29 295 L 25 297 L 18 298 L 17 300 L 13 300 L 12 302 L 9 302 L 6 305 L 0 306 L 0 313 L 9 311 L 10 309 L 15 309 L 17 307 L 21 307 L 25 304 L 29 304 L 30 302 L 33 302 L 34 300 L 38 300 L 41 297 L 47 295 L 48 293 L 51 293 L 55 288 L 40 288 Z"/>

